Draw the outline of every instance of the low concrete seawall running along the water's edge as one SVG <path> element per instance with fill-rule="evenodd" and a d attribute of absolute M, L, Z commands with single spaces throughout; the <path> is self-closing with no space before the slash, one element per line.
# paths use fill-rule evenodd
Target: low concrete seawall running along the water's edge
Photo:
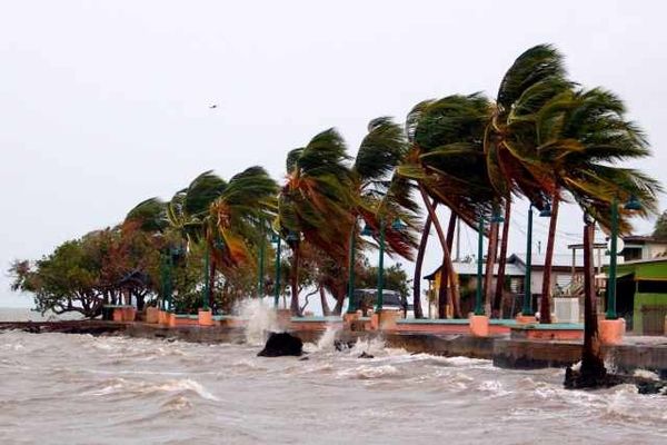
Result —
<path fill-rule="evenodd" d="M 153 338 L 190 343 L 246 342 L 243 326 L 160 326 L 143 322 L 119 323 L 104 320 L 63 322 L 0 322 L 0 332 L 23 330 L 33 334 L 62 333 L 89 335 L 120 335 L 133 338 Z M 326 329 L 287 329 L 303 342 L 317 343 Z M 381 338 L 389 347 L 404 348 L 412 354 L 464 356 L 489 359 L 494 366 L 506 369 L 566 368 L 579 362 L 581 342 L 510 338 L 507 334 L 476 337 L 465 334 L 437 334 L 425 332 L 350 332 L 338 329 L 336 339 L 355 343 L 358 339 Z M 667 379 L 667 339 L 604 347 L 606 362 L 616 373 L 636 370 L 656 373 Z"/>

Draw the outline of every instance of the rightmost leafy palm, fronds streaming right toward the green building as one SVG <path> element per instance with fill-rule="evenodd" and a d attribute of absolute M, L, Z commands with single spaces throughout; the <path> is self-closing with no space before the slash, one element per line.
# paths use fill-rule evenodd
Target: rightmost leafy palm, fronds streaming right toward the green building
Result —
<path fill-rule="evenodd" d="M 646 138 L 635 123 L 625 118 L 620 99 L 603 89 L 566 90 L 551 98 L 535 115 L 536 154 L 539 162 L 549 165 L 554 185 L 554 206 L 547 253 L 552 246 L 557 204 L 570 195 L 597 220 L 608 227 L 610 196 L 634 195 L 646 206 L 643 215 L 655 211 L 655 194 L 659 185 L 617 162 L 649 156 Z M 624 184 L 623 188 L 619 188 Z M 617 191 L 614 191 L 618 188 Z M 607 204 L 605 204 L 607 202 Z M 552 247 L 551 247 L 552 250 Z M 547 273 L 545 273 L 548 280 Z M 540 314 L 550 322 L 550 286 L 542 288 Z"/>

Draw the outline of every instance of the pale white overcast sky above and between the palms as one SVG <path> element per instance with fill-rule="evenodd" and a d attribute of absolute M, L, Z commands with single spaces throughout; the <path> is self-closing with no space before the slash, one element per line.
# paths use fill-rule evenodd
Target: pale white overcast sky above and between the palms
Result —
<path fill-rule="evenodd" d="M 665 14 L 658 1 L 609 0 L 4 1 L 0 266 L 168 199 L 203 170 L 227 178 L 259 164 L 282 180 L 287 151 L 329 127 L 355 154 L 371 118 L 402 121 L 450 93 L 495 96 L 514 59 L 544 42 L 574 80 L 625 99 L 655 151 L 637 167 L 661 179 Z M 526 207 L 512 251 L 526 250 Z M 581 219 L 561 216 L 566 253 Z M 544 249 L 548 221 L 537 222 Z M 475 236 L 464 230 L 464 254 Z M 425 271 L 441 255 L 431 246 Z M 0 306 L 20 303 L 2 274 Z"/>

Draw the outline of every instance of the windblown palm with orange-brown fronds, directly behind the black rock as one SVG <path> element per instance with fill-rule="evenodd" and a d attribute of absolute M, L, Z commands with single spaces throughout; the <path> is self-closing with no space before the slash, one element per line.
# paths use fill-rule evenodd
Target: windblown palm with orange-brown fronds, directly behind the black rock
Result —
<path fill-rule="evenodd" d="M 342 263 L 352 226 L 350 170 L 345 142 L 335 129 L 315 136 L 287 157 L 287 181 L 278 196 L 278 227 L 292 250 L 292 314 L 298 315 L 301 243 L 307 241 Z"/>

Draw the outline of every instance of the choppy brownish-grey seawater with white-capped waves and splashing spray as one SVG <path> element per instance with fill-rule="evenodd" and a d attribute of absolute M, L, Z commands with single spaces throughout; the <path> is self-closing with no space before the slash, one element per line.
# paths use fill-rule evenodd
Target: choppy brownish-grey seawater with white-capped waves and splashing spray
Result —
<path fill-rule="evenodd" d="M 332 330 L 306 345 L 307 360 L 257 357 L 260 337 L 248 338 L 1 333 L 0 443 L 667 443 L 665 396 L 631 386 L 566 390 L 560 369 L 505 370 L 381 340 L 338 352 Z"/>

